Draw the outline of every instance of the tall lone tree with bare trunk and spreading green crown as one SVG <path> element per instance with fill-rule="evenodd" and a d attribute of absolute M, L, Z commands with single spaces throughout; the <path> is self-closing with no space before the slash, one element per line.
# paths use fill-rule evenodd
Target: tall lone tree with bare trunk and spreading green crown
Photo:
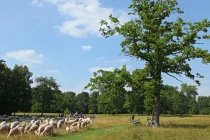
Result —
<path fill-rule="evenodd" d="M 186 22 L 182 18 L 171 21 L 167 18 L 173 14 L 183 14 L 178 8 L 177 0 L 132 0 L 129 6 L 133 19 L 121 24 L 110 15 L 108 21 L 101 21 L 102 35 L 105 37 L 119 34 L 125 38 L 122 41 L 122 52 L 139 60 L 146 61 L 145 67 L 153 79 L 154 85 L 154 121 L 158 127 L 160 115 L 160 91 L 162 74 L 176 78 L 175 75 L 184 74 L 186 77 L 200 84 L 196 75 L 191 72 L 189 61 L 201 58 L 202 63 L 210 62 L 208 50 L 202 50 L 196 44 L 200 39 L 209 39 L 206 34 L 210 22 Z M 177 78 L 176 78 L 177 79 Z"/>

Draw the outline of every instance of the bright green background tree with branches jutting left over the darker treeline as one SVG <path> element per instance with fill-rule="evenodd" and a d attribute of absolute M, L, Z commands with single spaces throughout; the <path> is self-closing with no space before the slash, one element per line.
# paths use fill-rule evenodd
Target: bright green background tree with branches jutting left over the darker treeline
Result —
<path fill-rule="evenodd" d="M 130 73 L 126 70 L 126 66 L 122 69 L 114 69 L 111 71 L 98 70 L 94 72 L 94 78 L 90 79 L 85 88 L 90 90 L 99 91 L 101 94 L 99 98 L 99 105 L 106 105 L 106 107 L 99 107 L 99 110 L 103 108 L 108 109 L 103 112 L 111 112 L 118 114 L 123 111 L 123 104 L 125 103 L 126 85 L 127 79 Z M 109 103 L 109 105 L 107 105 Z"/>

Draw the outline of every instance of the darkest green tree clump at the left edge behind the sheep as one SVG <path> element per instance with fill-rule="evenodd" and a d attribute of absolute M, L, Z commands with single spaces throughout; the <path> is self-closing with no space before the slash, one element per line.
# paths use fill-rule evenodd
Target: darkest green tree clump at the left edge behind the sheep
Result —
<path fill-rule="evenodd" d="M 0 60 L 0 114 L 30 111 L 32 73 L 27 66 L 11 70 Z"/>

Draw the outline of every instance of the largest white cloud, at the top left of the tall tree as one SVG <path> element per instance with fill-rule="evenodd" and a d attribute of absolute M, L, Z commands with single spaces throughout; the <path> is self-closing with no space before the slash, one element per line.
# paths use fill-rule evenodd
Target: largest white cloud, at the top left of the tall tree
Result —
<path fill-rule="evenodd" d="M 129 19 L 124 11 L 105 8 L 99 0 L 42 0 L 42 2 L 55 5 L 58 12 L 69 19 L 56 28 L 61 33 L 74 37 L 100 36 L 100 21 L 102 19 L 109 21 L 110 14 L 118 17 L 122 23 Z"/>

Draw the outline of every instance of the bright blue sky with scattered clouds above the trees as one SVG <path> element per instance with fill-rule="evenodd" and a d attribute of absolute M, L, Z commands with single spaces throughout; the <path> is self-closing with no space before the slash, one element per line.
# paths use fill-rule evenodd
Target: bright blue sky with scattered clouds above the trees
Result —
<path fill-rule="evenodd" d="M 63 91 L 79 93 L 97 69 L 112 70 L 126 64 L 130 71 L 143 63 L 119 55 L 122 38 L 104 38 L 98 32 L 101 19 L 113 14 L 122 22 L 130 0 L 6 0 L 0 5 L 0 57 L 9 67 L 28 65 L 33 78 L 53 76 Z M 180 0 L 188 21 L 209 18 L 209 0 Z M 208 49 L 210 41 L 200 47 Z M 191 63 L 193 72 L 205 76 L 199 95 L 210 94 L 210 66 Z M 181 83 L 164 76 L 165 83 Z M 182 78 L 188 84 L 193 81 Z"/>

